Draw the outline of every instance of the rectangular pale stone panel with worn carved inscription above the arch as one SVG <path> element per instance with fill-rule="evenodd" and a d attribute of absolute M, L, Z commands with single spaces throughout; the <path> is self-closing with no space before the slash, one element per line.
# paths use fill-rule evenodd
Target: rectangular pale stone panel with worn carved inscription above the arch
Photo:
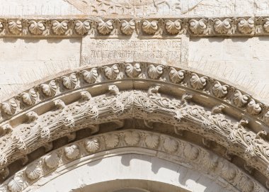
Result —
<path fill-rule="evenodd" d="M 177 39 L 93 39 L 82 41 L 82 64 L 109 64 L 113 62 L 181 62 L 181 38 Z"/>

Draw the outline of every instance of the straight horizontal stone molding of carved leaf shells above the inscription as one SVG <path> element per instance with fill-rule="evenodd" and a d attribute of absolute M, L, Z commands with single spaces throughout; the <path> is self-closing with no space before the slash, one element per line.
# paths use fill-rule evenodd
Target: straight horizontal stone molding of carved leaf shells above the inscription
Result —
<path fill-rule="evenodd" d="M 269 17 L 227 18 L 0 18 L 0 37 L 147 37 L 269 35 Z"/>

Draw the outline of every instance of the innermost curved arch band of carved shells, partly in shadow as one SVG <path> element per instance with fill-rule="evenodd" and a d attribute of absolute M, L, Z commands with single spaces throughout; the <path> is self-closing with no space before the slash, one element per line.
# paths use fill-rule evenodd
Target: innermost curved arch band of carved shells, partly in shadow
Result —
<path fill-rule="evenodd" d="M 212 152 L 189 142 L 156 132 L 123 130 L 107 132 L 73 142 L 36 159 L 0 186 L 0 191 L 37 189 L 39 180 L 53 179 L 77 166 L 118 154 L 144 154 L 200 171 L 231 191 L 267 191 L 238 167 Z"/>

